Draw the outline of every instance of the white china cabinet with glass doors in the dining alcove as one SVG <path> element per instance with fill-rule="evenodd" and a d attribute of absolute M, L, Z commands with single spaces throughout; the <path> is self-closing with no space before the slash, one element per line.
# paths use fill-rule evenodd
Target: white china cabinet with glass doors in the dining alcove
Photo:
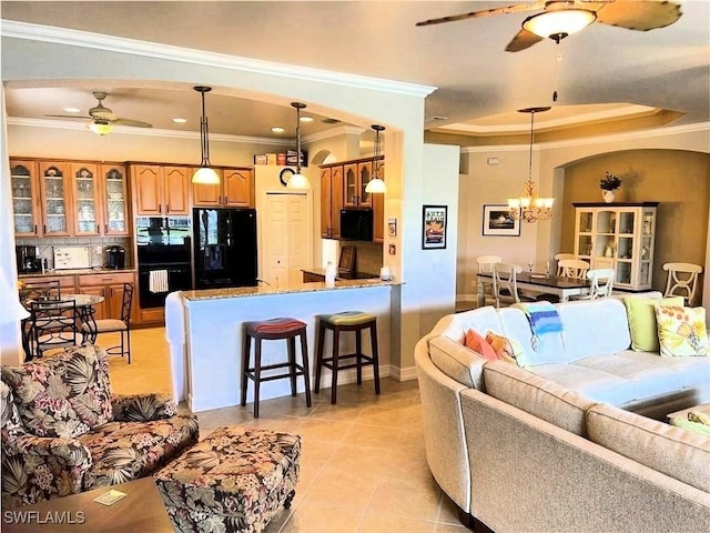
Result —
<path fill-rule="evenodd" d="M 574 203 L 575 253 L 613 269 L 615 288 L 651 289 L 658 202 Z"/>

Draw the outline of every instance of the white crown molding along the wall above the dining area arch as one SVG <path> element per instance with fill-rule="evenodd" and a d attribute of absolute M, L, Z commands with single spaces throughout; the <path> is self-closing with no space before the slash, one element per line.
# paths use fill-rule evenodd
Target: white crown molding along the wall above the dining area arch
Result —
<path fill-rule="evenodd" d="M 551 141 L 536 142 L 534 149 L 549 150 L 556 148 L 569 148 L 588 145 L 590 142 L 621 142 L 633 141 L 638 139 L 652 139 L 657 137 L 679 135 L 683 133 L 697 133 L 710 131 L 710 122 L 696 122 L 692 124 L 670 125 L 666 128 L 653 128 L 648 130 L 625 131 L 622 133 L 612 133 L 609 135 L 584 137 L 579 139 L 570 139 L 569 141 Z M 529 150 L 530 144 L 509 144 L 509 145 L 485 145 L 485 147 L 462 147 L 462 153 L 486 153 L 486 152 L 518 152 L 520 150 Z"/>

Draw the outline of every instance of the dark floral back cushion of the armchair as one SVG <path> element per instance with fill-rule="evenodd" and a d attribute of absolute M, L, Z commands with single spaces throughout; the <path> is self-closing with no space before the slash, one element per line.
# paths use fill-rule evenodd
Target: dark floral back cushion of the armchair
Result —
<path fill-rule="evenodd" d="M 113 419 L 109 363 L 100 348 L 68 348 L 1 372 L 28 433 L 74 438 Z"/>

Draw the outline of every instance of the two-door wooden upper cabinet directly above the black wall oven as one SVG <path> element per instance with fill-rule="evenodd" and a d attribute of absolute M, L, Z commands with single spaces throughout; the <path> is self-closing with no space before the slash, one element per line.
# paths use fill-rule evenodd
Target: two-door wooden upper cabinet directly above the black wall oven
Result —
<path fill-rule="evenodd" d="M 135 214 L 189 214 L 190 175 L 186 167 L 131 164 Z"/>

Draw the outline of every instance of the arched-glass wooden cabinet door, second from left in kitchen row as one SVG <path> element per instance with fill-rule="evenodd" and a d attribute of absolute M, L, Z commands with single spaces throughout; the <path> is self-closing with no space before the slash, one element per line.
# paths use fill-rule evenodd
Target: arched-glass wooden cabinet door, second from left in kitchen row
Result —
<path fill-rule="evenodd" d="M 42 233 L 45 237 L 72 234 L 72 202 L 69 164 L 40 162 L 40 190 L 42 199 Z"/>

